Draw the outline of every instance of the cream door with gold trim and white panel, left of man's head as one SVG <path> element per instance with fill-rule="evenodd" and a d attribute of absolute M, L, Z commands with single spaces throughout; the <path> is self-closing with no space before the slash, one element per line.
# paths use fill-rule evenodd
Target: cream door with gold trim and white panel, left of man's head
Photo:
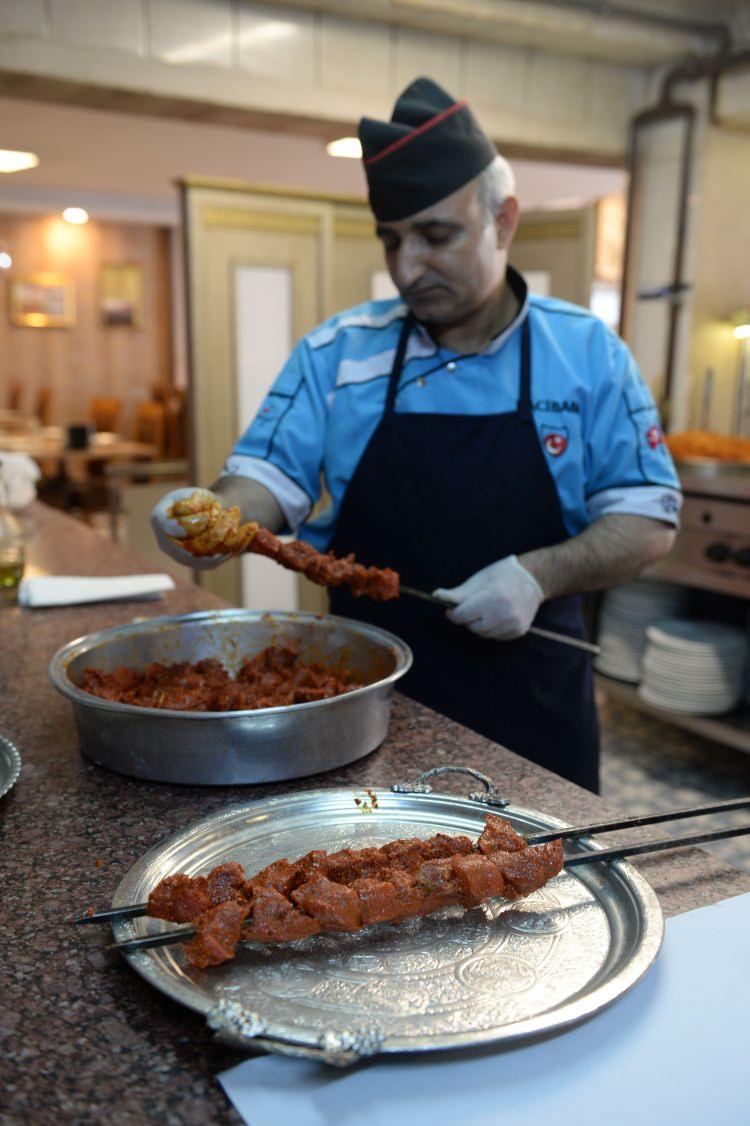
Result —
<path fill-rule="evenodd" d="M 367 301 L 382 268 L 364 202 L 188 180 L 193 480 L 216 479 L 295 342 Z M 244 556 L 200 582 L 235 605 L 327 608 L 325 592 L 268 560 Z"/>

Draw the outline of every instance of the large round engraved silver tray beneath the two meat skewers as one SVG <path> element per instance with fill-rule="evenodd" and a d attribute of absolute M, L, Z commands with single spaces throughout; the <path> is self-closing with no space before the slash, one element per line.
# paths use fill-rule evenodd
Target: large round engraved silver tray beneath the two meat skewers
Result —
<path fill-rule="evenodd" d="M 428 774 L 446 769 L 465 768 Z M 146 852 L 113 906 L 145 900 L 167 875 L 198 875 L 230 859 L 253 872 L 313 848 L 440 830 L 475 837 L 493 807 L 527 834 L 565 828 L 508 805 L 483 776 L 488 793 L 468 797 L 432 794 L 423 777 L 392 790 L 288 794 L 204 817 Z M 590 839 L 566 843 L 569 852 L 598 847 Z M 141 918 L 113 929 L 124 941 L 172 924 Z M 152 985 L 203 1012 L 223 1040 L 346 1064 L 376 1052 L 471 1047 L 564 1028 L 634 985 L 662 935 L 654 892 L 617 860 L 563 870 L 515 903 L 494 900 L 285 947 L 248 945 L 234 962 L 206 971 L 187 966 L 181 946 L 125 956 Z"/>

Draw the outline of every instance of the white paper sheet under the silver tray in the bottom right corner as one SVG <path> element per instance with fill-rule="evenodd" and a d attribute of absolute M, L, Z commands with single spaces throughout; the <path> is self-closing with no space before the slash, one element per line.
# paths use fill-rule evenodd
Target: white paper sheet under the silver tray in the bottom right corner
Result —
<path fill-rule="evenodd" d="M 655 965 L 582 1025 L 354 1071 L 283 1056 L 218 1081 L 250 1126 L 748 1126 L 750 894 L 667 921 Z"/>

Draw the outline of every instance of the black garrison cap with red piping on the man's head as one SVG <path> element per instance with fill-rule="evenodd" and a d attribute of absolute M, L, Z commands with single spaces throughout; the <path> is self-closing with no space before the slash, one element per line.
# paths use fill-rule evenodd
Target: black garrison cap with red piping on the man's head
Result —
<path fill-rule="evenodd" d="M 398 221 L 445 199 L 483 172 L 497 150 L 465 101 L 429 78 L 398 99 L 390 122 L 363 117 L 363 162 L 375 218 Z"/>

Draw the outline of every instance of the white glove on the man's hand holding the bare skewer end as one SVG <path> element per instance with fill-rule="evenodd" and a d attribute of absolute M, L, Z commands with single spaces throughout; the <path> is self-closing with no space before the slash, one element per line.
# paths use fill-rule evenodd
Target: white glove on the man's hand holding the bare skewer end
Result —
<path fill-rule="evenodd" d="M 490 563 L 459 587 L 432 593 L 456 604 L 448 610 L 450 622 L 495 641 L 523 637 L 544 601 L 544 591 L 517 555 Z"/>

